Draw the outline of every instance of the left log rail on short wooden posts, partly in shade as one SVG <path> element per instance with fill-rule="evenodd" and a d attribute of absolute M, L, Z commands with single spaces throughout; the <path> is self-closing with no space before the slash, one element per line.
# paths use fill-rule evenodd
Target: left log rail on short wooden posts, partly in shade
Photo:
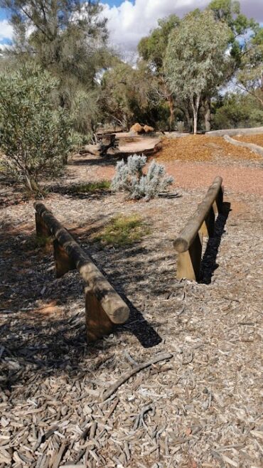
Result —
<path fill-rule="evenodd" d="M 95 341 L 111 333 L 114 324 L 123 324 L 127 321 L 129 307 L 45 205 L 36 202 L 34 207 L 36 235 L 53 238 L 57 277 L 65 275 L 69 270 L 77 269 L 87 283 L 85 287 L 87 340 Z"/>

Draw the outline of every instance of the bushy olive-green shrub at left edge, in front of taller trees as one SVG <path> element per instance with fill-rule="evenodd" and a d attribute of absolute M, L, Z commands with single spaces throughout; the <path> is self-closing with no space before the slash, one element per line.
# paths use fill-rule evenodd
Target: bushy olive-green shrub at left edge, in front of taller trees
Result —
<path fill-rule="evenodd" d="M 53 107 L 57 85 L 47 72 L 28 66 L 0 75 L 2 164 L 33 192 L 40 178 L 61 174 L 71 147 L 70 119 Z"/>

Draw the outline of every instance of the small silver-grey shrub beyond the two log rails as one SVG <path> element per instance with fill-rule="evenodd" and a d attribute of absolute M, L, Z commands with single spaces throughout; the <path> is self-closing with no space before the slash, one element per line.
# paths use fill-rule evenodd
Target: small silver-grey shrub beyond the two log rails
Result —
<path fill-rule="evenodd" d="M 164 166 L 155 161 L 151 161 L 147 174 L 143 174 L 146 161 L 146 156 L 138 154 L 129 156 L 126 164 L 123 159 L 118 161 L 112 179 L 112 191 L 127 192 L 128 198 L 132 200 L 149 200 L 166 191 L 173 184 L 173 177 L 166 176 Z"/>

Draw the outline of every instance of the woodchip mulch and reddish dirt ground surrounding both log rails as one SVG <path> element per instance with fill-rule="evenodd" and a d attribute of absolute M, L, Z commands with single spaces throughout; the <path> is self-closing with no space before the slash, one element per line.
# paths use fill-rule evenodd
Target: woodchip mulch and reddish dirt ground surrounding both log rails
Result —
<path fill-rule="evenodd" d="M 50 184 L 45 205 L 131 309 L 96 344 L 85 341 L 79 275 L 55 279 L 50 247 L 36 245 L 33 201 L 1 186 L 1 468 L 263 466 L 262 167 L 235 151 L 221 154 L 227 164 L 166 162 L 173 199 L 68 195 L 72 184 L 112 174 L 111 161 L 90 156 Z M 225 213 L 203 246 L 203 280 L 178 282 L 172 240 L 213 174 L 224 179 Z M 151 233 L 129 247 L 90 243 L 117 213 L 140 213 Z M 134 361 L 160 352 L 172 356 L 102 401 Z"/>

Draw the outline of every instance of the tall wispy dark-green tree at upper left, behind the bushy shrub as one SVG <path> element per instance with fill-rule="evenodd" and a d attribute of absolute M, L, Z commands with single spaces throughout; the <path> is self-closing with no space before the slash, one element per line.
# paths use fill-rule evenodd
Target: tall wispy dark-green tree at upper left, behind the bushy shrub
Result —
<path fill-rule="evenodd" d="M 74 113 L 77 129 L 90 129 L 97 112 L 92 100 L 99 88 L 97 73 L 112 60 L 102 6 L 81 0 L 0 0 L 0 6 L 9 11 L 14 27 L 9 54 L 22 63 L 33 61 L 58 78 L 60 106 Z M 80 94 L 91 107 L 85 116 Z M 84 124 L 77 115 L 84 117 Z"/>

